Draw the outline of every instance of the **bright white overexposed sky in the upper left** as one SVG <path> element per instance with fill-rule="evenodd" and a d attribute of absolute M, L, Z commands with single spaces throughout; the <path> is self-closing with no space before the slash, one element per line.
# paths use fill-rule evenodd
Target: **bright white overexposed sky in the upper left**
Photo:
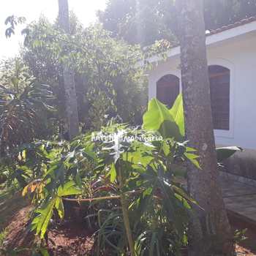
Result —
<path fill-rule="evenodd" d="M 74 11 L 79 20 L 88 26 L 96 20 L 96 11 L 104 10 L 106 0 L 69 0 L 69 9 Z M 55 20 L 58 15 L 58 0 L 7 0 L 0 5 L 0 58 L 14 56 L 18 53 L 19 43 L 23 37 L 17 29 L 15 36 L 6 39 L 4 20 L 10 16 L 23 16 L 27 23 L 44 15 L 49 20 Z"/>

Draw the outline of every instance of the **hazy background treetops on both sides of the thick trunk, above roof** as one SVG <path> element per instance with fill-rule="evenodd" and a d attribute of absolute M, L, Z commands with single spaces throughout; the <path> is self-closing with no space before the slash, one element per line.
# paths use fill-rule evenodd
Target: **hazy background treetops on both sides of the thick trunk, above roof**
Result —
<path fill-rule="evenodd" d="M 109 0 L 98 13 L 103 27 L 130 43 L 150 45 L 157 39 L 173 40 L 176 16 L 172 0 Z M 256 15 L 255 0 L 205 0 L 206 29 Z"/>

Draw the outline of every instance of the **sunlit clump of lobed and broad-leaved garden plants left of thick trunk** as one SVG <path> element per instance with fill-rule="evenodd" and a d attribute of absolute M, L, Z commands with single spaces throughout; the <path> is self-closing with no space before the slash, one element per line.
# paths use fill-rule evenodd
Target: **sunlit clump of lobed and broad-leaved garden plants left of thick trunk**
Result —
<path fill-rule="evenodd" d="M 178 176 L 187 160 L 200 168 L 184 142 L 181 100 L 168 110 L 152 99 L 143 129 L 109 124 L 70 143 L 41 145 L 40 175 L 23 191 L 34 194 L 32 229 L 44 238 L 54 212 L 64 218 L 65 202 L 86 203 L 93 208 L 86 220 L 97 219 L 94 255 L 179 255 L 196 202 Z"/>

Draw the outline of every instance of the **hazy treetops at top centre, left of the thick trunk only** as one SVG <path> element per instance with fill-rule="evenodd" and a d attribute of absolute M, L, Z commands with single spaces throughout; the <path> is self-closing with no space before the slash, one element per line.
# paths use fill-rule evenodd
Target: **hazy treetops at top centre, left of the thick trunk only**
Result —
<path fill-rule="evenodd" d="M 131 44 L 151 45 L 156 40 L 173 40 L 167 15 L 171 13 L 173 0 L 109 0 L 105 11 L 99 11 L 99 22 L 113 36 Z"/>

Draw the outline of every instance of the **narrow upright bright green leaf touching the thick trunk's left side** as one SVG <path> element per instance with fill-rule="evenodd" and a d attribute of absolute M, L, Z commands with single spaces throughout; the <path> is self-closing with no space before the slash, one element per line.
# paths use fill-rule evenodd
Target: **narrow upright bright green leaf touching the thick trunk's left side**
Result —
<path fill-rule="evenodd" d="M 182 136 L 185 136 L 185 122 L 184 122 L 184 108 L 182 94 L 179 94 L 176 101 L 173 104 L 173 108 L 169 110 L 173 116 L 174 121 L 178 125 L 178 129 Z"/>

